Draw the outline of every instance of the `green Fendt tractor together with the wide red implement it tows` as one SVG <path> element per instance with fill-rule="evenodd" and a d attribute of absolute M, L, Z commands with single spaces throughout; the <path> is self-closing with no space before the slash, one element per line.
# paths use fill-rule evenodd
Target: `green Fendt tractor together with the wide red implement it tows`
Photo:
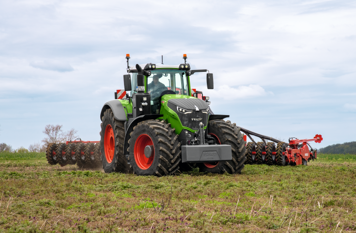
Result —
<path fill-rule="evenodd" d="M 213 89 L 213 74 L 191 70 L 186 54 L 179 66 L 162 62 L 130 67 L 129 59 L 126 54 L 124 90 L 117 90 L 115 99 L 101 110 L 100 141 L 50 143 L 49 164 L 81 168 L 101 164 L 108 173 L 163 176 L 193 167 L 233 174 L 241 173 L 244 164 L 307 165 L 316 158 L 308 141 L 321 142 L 321 135 L 285 143 L 225 121 L 229 115 L 214 114 L 209 97 L 190 86 L 194 73 L 207 72 L 207 88 Z M 251 135 L 262 142 L 256 143 Z M 246 144 L 247 136 L 252 142 Z"/>

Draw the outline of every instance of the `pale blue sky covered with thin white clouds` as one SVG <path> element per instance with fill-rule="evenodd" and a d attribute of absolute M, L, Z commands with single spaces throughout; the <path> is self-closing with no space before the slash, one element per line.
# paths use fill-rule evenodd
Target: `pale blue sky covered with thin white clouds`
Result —
<path fill-rule="evenodd" d="M 287 141 L 356 141 L 356 2 L 1 0 L 0 143 L 47 124 L 100 140 L 100 111 L 130 65 L 179 65 L 215 114 Z M 257 138 L 256 138 L 257 139 Z"/>

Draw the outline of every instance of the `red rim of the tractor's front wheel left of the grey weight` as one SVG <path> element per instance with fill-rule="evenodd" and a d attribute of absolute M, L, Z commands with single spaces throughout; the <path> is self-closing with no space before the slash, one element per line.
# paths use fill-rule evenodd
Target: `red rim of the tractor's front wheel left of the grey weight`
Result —
<path fill-rule="evenodd" d="M 139 135 L 139 137 L 135 142 L 135 148 L 134 148 L 135 162 L 137 166 L 139 166 L 139 168 L 141 168 L 142 170 L 148 169 L 152 165 L 153 159 L 155 158 L 155 146 L 153 148 L 152 156 L 150 158 L 147 158 L 145 156 L 145 151 L 144 151 L 145 147 L 150 145 L 154 146 L 151 137 L 147 134 Z"/>

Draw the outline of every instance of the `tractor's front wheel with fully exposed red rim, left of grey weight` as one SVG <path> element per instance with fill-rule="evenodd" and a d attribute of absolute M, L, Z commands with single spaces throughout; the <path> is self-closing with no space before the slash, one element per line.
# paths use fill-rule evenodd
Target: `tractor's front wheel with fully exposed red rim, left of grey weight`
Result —
<path fill-rule="evenodd" d="M 179 169 L 181 162 L 180 142 L 175 129 L 164 120 L 139 122 L 128 141 L 129 160 L 137 175 L 171 175 Z M 151 146 L 151 147 L 150 147 Z M 144 150 L 152 151 L 147 158 Z"/>

